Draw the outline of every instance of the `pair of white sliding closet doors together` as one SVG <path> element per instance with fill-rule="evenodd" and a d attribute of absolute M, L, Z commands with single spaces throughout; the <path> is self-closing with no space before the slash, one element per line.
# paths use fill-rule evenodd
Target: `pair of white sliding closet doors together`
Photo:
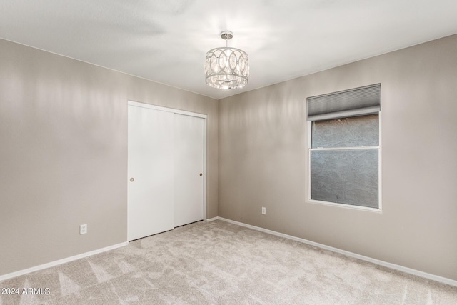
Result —
<path fill-rule="evenodd" d="M 129 101 L 129 241 L 205 218 L 205 119 Z"/>

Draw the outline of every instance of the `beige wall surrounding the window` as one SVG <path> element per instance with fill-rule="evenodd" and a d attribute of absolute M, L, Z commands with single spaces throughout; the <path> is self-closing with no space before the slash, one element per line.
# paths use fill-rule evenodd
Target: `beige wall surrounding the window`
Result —
<path fill-rule="evenodd" d="M 456 54 L 449 36 L 221 99 L 219 216 L 457 280 Z M 306 97 L 376 83 L 382 214 L 306 203 Z"/>

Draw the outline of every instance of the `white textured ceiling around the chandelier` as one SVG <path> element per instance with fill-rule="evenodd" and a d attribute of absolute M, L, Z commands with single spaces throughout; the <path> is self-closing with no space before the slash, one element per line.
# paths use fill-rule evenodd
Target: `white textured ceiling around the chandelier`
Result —
<path fill-rule="evenodd" d="M 0 37 L 221 99 L 456 34 L 456 11 L 456 0 L 0 0 Z M 243 89 L 205 84 L 223 30 L 249 55 Z"/>

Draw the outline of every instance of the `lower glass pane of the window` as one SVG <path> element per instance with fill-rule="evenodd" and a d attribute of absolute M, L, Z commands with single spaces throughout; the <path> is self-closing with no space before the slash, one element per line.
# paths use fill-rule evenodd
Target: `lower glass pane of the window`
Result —
<path fill-rule="evenodd" d="M 378 149 L 311 151 L 311 199 L 378 208 Z"/>

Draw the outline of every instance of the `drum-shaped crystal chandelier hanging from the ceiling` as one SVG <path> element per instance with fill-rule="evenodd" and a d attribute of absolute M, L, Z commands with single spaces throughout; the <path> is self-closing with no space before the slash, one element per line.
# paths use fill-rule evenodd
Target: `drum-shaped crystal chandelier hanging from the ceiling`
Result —
<path fill-rule="evenodd" d="M 211 49 L 206 53 L 205 76 L 208 86 L 218 89 L 242 88 L 248 84 L 249 59 L 245 51 L 229 48 L 231 31 L 221 31 L 226 47 Z"/>

